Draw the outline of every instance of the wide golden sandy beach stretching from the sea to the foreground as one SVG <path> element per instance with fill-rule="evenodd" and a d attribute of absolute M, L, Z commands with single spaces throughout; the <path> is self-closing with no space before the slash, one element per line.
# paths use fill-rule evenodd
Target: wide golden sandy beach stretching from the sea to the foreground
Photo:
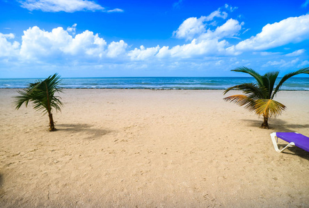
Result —
<path fill-rule="evenodd" d="M 269 136 L 309 135 L 309 92 L 270 130 L 222 92 L 65 89 L 48 132 L 1 89 L 0 207 L 309 207 L 309 153 Z"/>

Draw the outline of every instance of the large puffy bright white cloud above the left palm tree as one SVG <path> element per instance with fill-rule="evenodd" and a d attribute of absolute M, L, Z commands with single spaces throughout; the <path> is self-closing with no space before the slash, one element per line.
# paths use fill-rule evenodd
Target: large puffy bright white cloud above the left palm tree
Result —
<path fill-rule="evenodd" d="M 42 31 L 38 26 L 24 31 L 20 55 L 24 59 L 55 58 L 61 55 L 75 55 L 86 58 L 101 58 L 104 54 L 105 40 L 93 32 L 84 31 L 72 37 L 63 28 L 52 32 Z M 86 57 L 84 57 L 86 56 Z"/>

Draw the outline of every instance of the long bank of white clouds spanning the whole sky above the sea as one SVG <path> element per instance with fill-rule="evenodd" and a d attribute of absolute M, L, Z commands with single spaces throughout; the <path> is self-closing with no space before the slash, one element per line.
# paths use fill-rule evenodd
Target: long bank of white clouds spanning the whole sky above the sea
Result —
<path fill-rule="evenodd" d="M 232 8 L 229 9 L 232 10 Z M 54 28 L 52 31 L 45 31 L 38 26 L 33 26 L 24 31 L 20 44 L 14 41 L 15 35 L 0 33 L 0 62 L 12 60 L 10 58 L 19 59 L 22 63 L 31 62 L 31 64 L 74 63 L 84 64 L 84 66 L 88 63 L 99 65 L 125 63 L 126 66 L 129 64 L 136 66 L 136 62 L 140 66 L 150 66 L 150 62 L 161 62 L 170 67 L 176 66 L 171 63 L 177 62 L 182 67 L 185 62 L 189 64 L 194 60 L 194 63 L 200 63 L 213 58 L 212 67 L 219 67 L 223 63 L 223 65 L 229 64 L 229 66 L 234 66 L 233 64 L 248 65 L 250 62 L 245 62 L 245 59 L 251 55 L 258 56 L 258 62 L 263 60 L 266 63 L 263 67 L 303 66 L 307 64 L 304 62 L 306 60 L 305 49 L 288 54 L 261 50 L 308 40 L 309 37 L 306 35 L 309 27 L 308 16 L 290 17 L 276 24 L 268 24 L 264 26 L 261 33 L 248 40 L 241 42 L 232 40 L 239 42 L 234 45 L 228 42 L 228 38 L 239 38 L 243 22 L 239 22 L 237 19 L 221 18 L 221 24 L 210 27 L 209 22 L 205 21 L 205 17 L 191 17 L 186 19 L 177 30 L 177 35 L 189 42 L 148 48 L 141 45 L 135 49 L 130 49 L 123 40 L 107 44 L 102 37 L 92 31 L 76 34 L 77 24 L 68 26 L 66 29 Z M 244 51 L 250 53 L 243 53 Z M 242 57 L 246 57 L 245 59 L 227 61 L 241 53 L 243 53 Z M 253 58 L 248 60 L 253 60 Z M 268 60 L 269 62 L 267 62 Z"/>

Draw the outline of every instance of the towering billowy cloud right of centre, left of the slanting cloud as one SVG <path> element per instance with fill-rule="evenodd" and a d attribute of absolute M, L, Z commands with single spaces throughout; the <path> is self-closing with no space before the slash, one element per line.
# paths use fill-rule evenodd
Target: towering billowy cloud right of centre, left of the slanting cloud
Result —
<path fill-rule="evenodd" d="M 157 54 L 158 58 L 193 58 L 199 55 L 237 55 L 234 47 L 223 38 L 237 37 L 244 22 L 239 23 L 236 19 L 228 19 L 221 26 L 217 26 L 213 31 L 205 29 L 205 17 L 190 17 L 186 19 L 174 34 L 176 37 L 191 40 L 191 43 L 182 46 L 174 46 L 169 49 L 164 46 Z"/>

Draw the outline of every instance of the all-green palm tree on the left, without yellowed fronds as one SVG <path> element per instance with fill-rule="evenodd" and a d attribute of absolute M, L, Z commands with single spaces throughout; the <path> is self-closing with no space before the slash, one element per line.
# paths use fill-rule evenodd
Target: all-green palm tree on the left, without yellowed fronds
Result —
<path fill-rule="evenodd" d="M 49 131 L 56 130 L 52 109 L 61 111 L 63 106 L 63 103 L 59 100 L 60 97 L 55 96 L 56 92 L 62 92 L 61 87 L 58 87 L 58 84 L 61 82 L 59 78 L 60 76 L 55 73 L 45 80 L 37 80 L 35 83 L 30 83 L 22 91 L 17 91 L 20 95 L 14 97 L 17 110 L 23 103 L 27 107 L 29 101 L 32 101 L 35 110 L 42 110 L 45 114 L 47 113 L 49 116 Z"/>

